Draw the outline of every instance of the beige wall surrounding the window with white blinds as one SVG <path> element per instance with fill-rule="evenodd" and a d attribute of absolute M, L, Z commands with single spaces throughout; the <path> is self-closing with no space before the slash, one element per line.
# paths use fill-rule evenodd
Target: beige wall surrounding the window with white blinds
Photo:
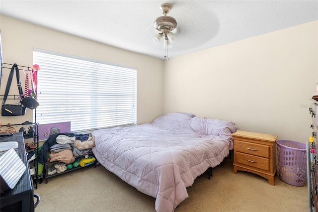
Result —
<path fill-rule="evenodd" d="M 163 114 L 163 61 L 153 57 L 113 48 L 97 42 L 60 33 L 24 21 L 0 16 L 4 63 L 32 66 L 33 48 L 86 57 L 110 63 L 137 67 L 137 123 L 151 122 Z M 41 66 L 41 64 L 39 64 Z M 1 95 L 4 94 L 9 69 L 3 69 Z M 24 91 L 24 75 L 20 73 Z M 16 86 L 13 79 L 10 91 Z M 18 94 L 10 92 L 11 94 Z M 2 101 L 1 101 L 2 103 Z M 7 102 L 10 103 L 10 102 Z M 32 121 L 31 110 L 24 116 L 0 117 L 0 123 Z M 20 126 L 16 126 L 17 131 Z M 5 129 L 5 127 L 2 127 Z"/>

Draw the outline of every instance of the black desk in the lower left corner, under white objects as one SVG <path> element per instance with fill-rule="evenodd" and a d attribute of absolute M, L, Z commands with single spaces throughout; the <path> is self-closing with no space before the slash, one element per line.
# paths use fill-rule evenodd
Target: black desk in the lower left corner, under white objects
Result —
<path fill-rule="evenodd" d="M 33 185 L 30 176 L 28 161 L 25 154 L 22 132 L 13 133 L 12 136 L 0 137 L 0 142 L 17 141 L 19 146 L 15 149 L 26 166 L 26 171 L 15 185 L 14 189 L 1 194 L 1 212 L 34 212 Z"/>

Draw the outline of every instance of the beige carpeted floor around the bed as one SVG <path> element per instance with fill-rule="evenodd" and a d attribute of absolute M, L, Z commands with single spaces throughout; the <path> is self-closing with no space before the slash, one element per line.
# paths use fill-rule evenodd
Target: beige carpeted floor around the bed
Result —
<path fill-rule="evenodd" d="M 275 177 L 275 186 L 258 175 L 233 174 L 233 157 L 199 176 L 175 212 L 306 212 L 307 184 L 296 187 Z M 156 212 L 155 198 L 142 194 L 99 165 L 48 179 L 34 190 L 35 212 Z"/>

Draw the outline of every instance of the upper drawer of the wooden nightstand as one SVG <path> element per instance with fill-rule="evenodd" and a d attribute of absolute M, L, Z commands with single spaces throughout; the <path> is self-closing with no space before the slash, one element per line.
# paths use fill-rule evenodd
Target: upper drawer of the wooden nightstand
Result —
<path fill-rule="evenodd" d="M 269 146 L 237 140 L 237 152 L 269 158 Z"/>

